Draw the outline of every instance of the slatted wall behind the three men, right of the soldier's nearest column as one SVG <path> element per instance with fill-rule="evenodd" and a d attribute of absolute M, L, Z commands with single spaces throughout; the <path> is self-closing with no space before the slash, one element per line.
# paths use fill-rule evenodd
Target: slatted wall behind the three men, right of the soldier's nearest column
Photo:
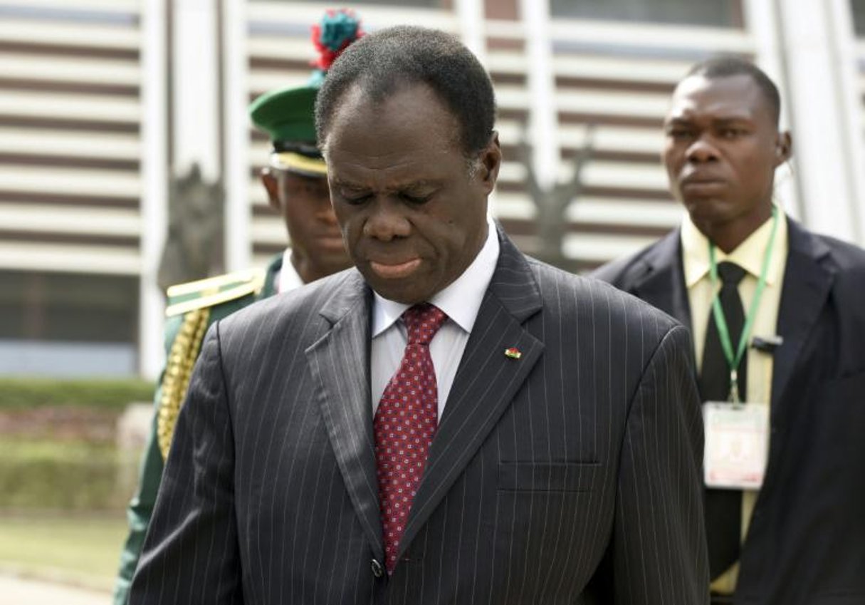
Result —
<path fill-rule="evenodd" d="M 495 3 L 494 3 L 495 4 Z M 250 3 L 250 99 L 282 83 L 300 84 L 312 57 L 308 28 L 319 16 L 311 3 Z M 406 12 L 355 5 L 367 29 L 393 23 L 452 24 L 452 14 Z M 515 4 L 516 6 L 516 4 Z M 499 101 L 498 128 L 505 164 L 495 196 L 504 227 L 526 252 L 538 250 L 535 207 L 529 199 L 525 169 L 519 162 L 522 125 L 529 117 L 529 65 L 519 16 L 500 16 L 487 3 L 486 61 Z M 495 8 L 495 7 L 493 7 Z M 515 13 L 516 14 L 516 13 Z M 435 23 L 438 20 L 438 23 Z M 559 125 L 561 180 L 593 124 L 594 146 L 584 169 L 583 189 L 567 211 L 564 252 L 573 269 L 635 251 L 673 228 L 681 217 L 670 199 L 660 163 L 663 114 L 676 80 L 689 65 L 713 53 L 752 50 L 740 29 L 653 26 L 648 23 L 587 22 L 553 18 L 555 106 Z M 577 43 L 579 41 L 579 43 Z M 266 138 L 250 131 L 253 149 L 250 198 L 253 200 L 253 252 L 263 261 L 283 247 L 284 229 L 266 206 L 257 173 L 266 161 Z"/>

